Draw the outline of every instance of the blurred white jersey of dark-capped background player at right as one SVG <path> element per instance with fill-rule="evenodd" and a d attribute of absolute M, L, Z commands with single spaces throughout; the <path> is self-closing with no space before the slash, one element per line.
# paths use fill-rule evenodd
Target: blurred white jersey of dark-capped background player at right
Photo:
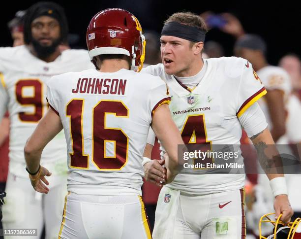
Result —
<path fill-rule="evenodd" d="M 287 108 L 287 102 L 292 90 L 291 80 L 289 74 L 280 67 L 267 66 L 257 71 L 262 83 L 267 91 L 269 90 L 281 90 L 283 92 L 284 106 Z M 269 129 L 272 128 L 271 116 L 269 113 L 268 104 L 263 97 L 258 101 L 262 111 L 264 112 Z"/>

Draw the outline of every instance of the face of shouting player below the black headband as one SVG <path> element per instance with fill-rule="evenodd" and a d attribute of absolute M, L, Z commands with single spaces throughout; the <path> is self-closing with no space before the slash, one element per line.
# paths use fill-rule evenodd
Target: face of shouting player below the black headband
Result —
<path fill-rule="evenodd" d="M 170 75 L 186 76 L 190 68 L 193 52 L 190 41 L 176 36 L 163 35 L 161 42 L 161 58 L 165 72 Z"/>

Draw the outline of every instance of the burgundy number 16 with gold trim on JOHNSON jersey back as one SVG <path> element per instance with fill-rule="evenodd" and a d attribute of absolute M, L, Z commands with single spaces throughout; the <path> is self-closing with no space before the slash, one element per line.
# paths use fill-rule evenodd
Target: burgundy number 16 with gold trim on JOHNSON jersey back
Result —
<path fill-rule="evenodd" d="M 73 99 L 66 106 L 72 140 L 71 168 L 88 169 L 89 155 L 84 153 L 84 99 Z M 128 108 L 121 101 L 100 101 L 92 109 L 92 162 L 102 171 L 121 170 L 127 162 L 128 137 L 119 128 L 106 126 L 107 114 L 128 118 Z M 106 155 L 106 144 L 114 144 L 114 156 Z"/>

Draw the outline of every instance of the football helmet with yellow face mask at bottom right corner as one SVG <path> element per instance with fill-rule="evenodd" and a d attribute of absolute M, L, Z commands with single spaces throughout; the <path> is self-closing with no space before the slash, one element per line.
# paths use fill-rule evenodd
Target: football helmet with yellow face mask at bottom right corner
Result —
<path fill-rule="evenodd" d="M 274 214 L 275 213 L 268 213 L 260 218 L 260 239 L 301 239 L 301 218 L 297 218 L 294 222 L 289 222 L 287 225 L 285 225 L 282 221 L 280 221 L 280 217 L 282 214 L 280 214 L 277 220 L 271 220 L 270 217 Z M 263 223 L 271 223 L 274 225 L 273 233 L 268 237 L 264 237 L 261 235 L 261 228 Z"/>

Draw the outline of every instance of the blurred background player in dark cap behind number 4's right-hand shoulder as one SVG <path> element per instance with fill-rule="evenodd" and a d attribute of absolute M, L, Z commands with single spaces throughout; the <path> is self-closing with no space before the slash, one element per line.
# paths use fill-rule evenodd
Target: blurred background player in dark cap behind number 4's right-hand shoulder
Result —
<path fill-rule="evenodd" d="M 260 99 L 259 105 L 265 113 L 271 135 L 275 142 L 285 134 L 287 118 L 286 103 L 292 87 L 290 76 L 280 68 L 271 66 L 266 59 L 265 41 L 255 34 L 241 36 L 234 46 L 235 55 L 247 59 L 265 85 L 268 95 Z"/>

